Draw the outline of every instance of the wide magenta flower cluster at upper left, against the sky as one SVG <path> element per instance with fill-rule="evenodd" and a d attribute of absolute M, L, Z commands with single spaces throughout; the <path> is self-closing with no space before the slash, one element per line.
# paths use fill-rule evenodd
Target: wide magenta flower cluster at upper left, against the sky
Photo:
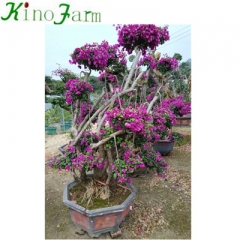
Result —
<path fill-rule="evenodd" d="M 105 67 L 116 62 L 126 64 L 125 55 L 118 48 L 118 44 L 109 45 L 107 41 L 102 41 L 101 44 L 85 44 L 74 50 L 69 62 L 77 64 L 80 69 L 83 65 L 84 68 L 103 71 Z"/>

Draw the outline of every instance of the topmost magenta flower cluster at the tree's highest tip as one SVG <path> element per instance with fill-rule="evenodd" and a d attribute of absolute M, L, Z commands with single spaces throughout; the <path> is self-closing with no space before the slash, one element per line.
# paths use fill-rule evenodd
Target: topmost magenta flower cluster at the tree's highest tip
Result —
<path fill-rule="evenodd" d="M 170 39 L 168 27 L 157 27 L 154 24 L 129 24 L 117 25 L 118 42 L 126 51 L 131 54 L 135 47 L 142 50 L 143 55 L 146 50 L 156 49 L 159 44 L 163 44 Z"/>

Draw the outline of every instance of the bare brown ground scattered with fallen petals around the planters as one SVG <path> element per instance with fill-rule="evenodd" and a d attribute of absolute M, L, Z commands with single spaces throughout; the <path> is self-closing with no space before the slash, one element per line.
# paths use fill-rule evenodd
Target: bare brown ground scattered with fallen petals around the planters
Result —
<path fill-rule="evenodd" d="M 187 136 L 190 127 L 173 129 Z M 69 134 L 46 137 L 46 158 L 59 154 L 57 150 L 69 141 Z M 191 138 L 182 146 L 175 146 L 164 159 L 169 164 L 166 179 L 148 172 L 133 178 L 137 196 L 133 209 L 120 225 L 119 239 L 191 239 Z M 63 186 L 72 181 L 67 171 L 45 168 L 45 237 L 46 239 L 90 239 L 79 235 L 71 221 L 68 208 L 62 203 Z M 111 238 L 109 233 L 100 239 Z"/>

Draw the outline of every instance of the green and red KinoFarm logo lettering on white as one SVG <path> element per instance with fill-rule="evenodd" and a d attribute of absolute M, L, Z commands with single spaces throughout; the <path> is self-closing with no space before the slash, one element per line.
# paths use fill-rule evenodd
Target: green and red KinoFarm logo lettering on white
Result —
<path fill-rule="evenodd" d="M 101 13 L 93 11 L 72 11 L 69 4 L 61 3 L 58 7 L 60 13 L 54 14 L 52 10 L 30 9 L 28 2 L 14 3 L 8 2 L 6 6 L 9 8 L 7 16 L 1 16 L 1 20 L 15 21 L 53 21 L 54 24 L 63 24 L 66 19 L 72 22 L 101 22 Z"/>

